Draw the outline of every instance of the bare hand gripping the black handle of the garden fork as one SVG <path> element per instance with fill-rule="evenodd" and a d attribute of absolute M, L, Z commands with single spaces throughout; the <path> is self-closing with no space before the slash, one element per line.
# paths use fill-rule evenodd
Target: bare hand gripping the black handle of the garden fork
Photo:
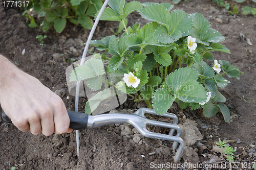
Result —
<path fill-rule="evenodd" d="M 0 67 L 1 107 L 19 130 L 46 136 L 72 132 L 65 104 L 58 95 L 1 55 Z"/>

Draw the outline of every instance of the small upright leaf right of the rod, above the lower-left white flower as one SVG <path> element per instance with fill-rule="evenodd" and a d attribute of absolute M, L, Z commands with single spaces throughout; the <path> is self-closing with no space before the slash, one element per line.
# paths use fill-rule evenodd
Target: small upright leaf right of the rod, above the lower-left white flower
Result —
<path fill-rule="evenodd" d="M 127 40 L 127 37 L 122 38 L 115 38 L 110 43 L 110 54 L 115 55 L 118 57 L 122 57 L 125 51 L 129 49 L 129 46 L 127 46 L 127 43 L 125 43 Z"/>

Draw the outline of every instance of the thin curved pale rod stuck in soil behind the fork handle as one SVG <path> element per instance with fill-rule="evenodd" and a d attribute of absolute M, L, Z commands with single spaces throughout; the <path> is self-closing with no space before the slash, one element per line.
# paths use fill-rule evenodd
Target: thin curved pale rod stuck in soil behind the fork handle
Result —
<path fill-rule="evenodd" d="M 109 0 L 105 0 L 104 4 L 102 5 L 100 11 L 99 11 L 99 14 L 94 22 L 94 25 L 93 25 L 93 28 L 89 34 L 89 37 L 88 37 L 88 40 L 87 40 L 87 43 L 86 43 L 86 46 L 84 47 L 84 50 L 83 50 L 83 54 L 82 54 L 82 59 L 81 59 L 81 63 L 80 65 L 83 65 L 85 59 L 86 59 L 86 55 L 87 55 L 87 52 L 88 52 L 88 48 L 89 48 L 89 45 L 90 45 L 90 42 L 92 40 L 92 37 L 93 37 L 93 34 L 96 30 L 96 27 L 98 25 L 98 22 L 99 22 L 99 19 L 104 11 L 104 9 L 106 8 L 106 5 L 108 5 L 109 3 Z M 78 101 L 79 101 L 79 88 L 80 88 L 80 81 L 77 81 L 76 82 L 76 98 L 75 98 L 75 111 L 78 112 Z M 79 130 L 76 130 L 76 147 L 77 147 L 77 158 L 79 158 L 79 148 L 80 148 L 80 140 L 79 140 Z"/>

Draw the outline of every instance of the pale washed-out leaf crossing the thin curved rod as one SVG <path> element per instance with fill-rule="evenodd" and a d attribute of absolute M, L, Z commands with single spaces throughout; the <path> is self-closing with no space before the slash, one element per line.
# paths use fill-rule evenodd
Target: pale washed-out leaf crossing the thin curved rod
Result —
<path fill-rule="evenodd" d="M 78 65 L 70 74 L 71 81 L 81 81 L 89 78 L 96 78 L 105 74 L 103 63 L 99 59 L 91 58 L 84 62 L 84 65 Z"/>

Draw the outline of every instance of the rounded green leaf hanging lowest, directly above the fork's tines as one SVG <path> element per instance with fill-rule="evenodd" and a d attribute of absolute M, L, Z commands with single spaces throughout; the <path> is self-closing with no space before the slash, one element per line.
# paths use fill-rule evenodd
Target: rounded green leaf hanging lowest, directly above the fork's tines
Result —
<path fill-rule="evenodd" d="M 160 88 L 153 93 L 153 108 L 157 114 L 164 114 L 172 106 L 175 98 L 166 89 Z"/>

